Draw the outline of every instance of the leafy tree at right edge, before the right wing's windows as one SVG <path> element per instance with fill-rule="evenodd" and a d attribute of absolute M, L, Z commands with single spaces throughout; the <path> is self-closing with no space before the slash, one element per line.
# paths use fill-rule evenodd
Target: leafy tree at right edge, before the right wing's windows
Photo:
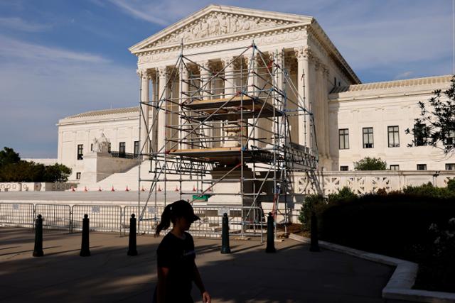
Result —
<path fill-rule="evenodd" d="M 435 90 L 427 103 L 419 101 L 419 108 L 420 116 L 414 119 L 414 128 L 405 131 L 414 136 L 408 146 L 429 145 L 443 149 L 444 153 L 455 152 L 455 75 L 449 89 Z"/>

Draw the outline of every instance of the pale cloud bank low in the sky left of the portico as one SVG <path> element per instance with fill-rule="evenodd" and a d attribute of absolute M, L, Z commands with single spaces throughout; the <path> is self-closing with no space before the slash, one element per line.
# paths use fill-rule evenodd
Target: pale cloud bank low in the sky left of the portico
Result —
<path fill-rule="evenodd" d="M 55 123 L 65 116 L 137 105 L 134 64 L 113 65 L 97 55 L 5 37 L 0 45 L 0 143 L 21 157 L 56 157 Z M 12 46 L 39 54 L 20 49 L 14 54 Z"/>

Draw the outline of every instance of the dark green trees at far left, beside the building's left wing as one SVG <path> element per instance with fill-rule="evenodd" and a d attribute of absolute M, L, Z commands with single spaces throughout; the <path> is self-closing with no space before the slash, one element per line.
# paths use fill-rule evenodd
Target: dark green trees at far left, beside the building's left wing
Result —
<path fill-rule="evenodd" d="M 24 161 L 13 148 L 0 151 L 0 182 L 66 182 L 70 175 L 65 165 Z"/>

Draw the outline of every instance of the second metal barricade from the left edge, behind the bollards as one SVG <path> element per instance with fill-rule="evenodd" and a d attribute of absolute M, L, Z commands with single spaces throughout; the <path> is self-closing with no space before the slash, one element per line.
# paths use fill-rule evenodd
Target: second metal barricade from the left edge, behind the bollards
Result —
<path fill-rule="evenodd" d="M 35 214 L 43 216 L 43 228 L 71 231 L 71 206 L 63 204 L 36 204 Z"/>

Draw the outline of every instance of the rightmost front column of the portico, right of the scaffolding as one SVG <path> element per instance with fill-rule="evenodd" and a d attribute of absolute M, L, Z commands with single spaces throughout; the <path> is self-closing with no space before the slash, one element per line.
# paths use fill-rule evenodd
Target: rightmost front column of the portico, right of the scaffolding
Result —
<path fill-rule="evenodd" d="M 309 96 L 309 57 L 308 47 L 294 49 L 297 58 L 297 85 L 299 96 L 304 100 L 304 108 L 311 111 Z M 299 144 L 311 148 L 311 117 L 308 114 L 299 116 Z"/>

